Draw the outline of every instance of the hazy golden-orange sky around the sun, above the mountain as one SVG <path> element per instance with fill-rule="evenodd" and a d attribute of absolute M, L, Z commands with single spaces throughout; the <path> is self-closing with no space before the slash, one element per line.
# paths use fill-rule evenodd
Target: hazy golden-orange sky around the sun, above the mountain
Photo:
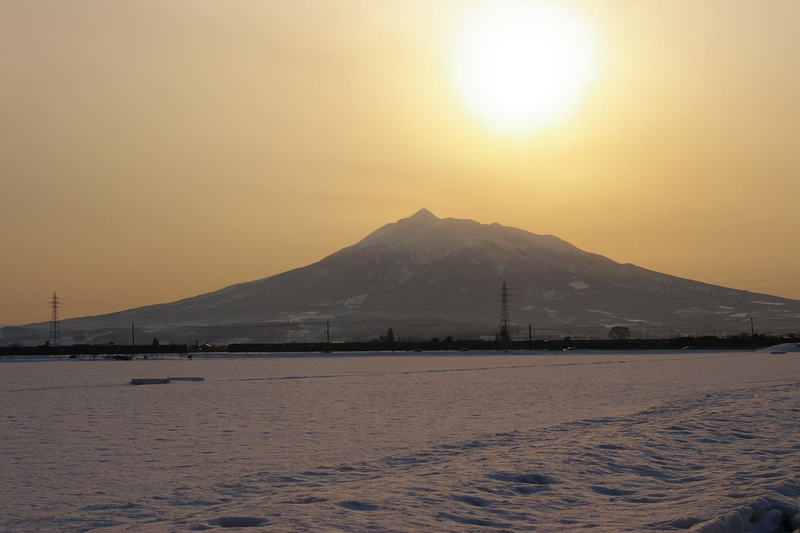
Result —
<path fill-rule="evenodd" d="M 473 2 L 0 0 L 0 324 L 171 301 L 427 207 L 800 298 L 796 0 L 585 0 L 597 74 L 498 134 Z"/>

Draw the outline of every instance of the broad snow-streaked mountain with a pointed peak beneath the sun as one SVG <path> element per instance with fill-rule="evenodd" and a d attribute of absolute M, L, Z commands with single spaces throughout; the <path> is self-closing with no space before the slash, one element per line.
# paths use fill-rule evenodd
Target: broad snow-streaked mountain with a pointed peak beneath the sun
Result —
<path fill-rule="evenodd" d="M 512 334 L 604 337 L 800 330 L 800 301 L 682 279 L 589 253 L 552 235 L 438 218 L 427 209 L 316 263 L 172 303 L 64 320 L 95 342 L 142 334 L 175 342 L 492 335 L 509 287 Z M 46 324 L 28 329 L 42 331 Z M 8 329 L 8 328 L 6 328 Z M 46 331 L 44 332 L 46 336 Z M 41 334 L 40 334 L 41 336 Z"/>

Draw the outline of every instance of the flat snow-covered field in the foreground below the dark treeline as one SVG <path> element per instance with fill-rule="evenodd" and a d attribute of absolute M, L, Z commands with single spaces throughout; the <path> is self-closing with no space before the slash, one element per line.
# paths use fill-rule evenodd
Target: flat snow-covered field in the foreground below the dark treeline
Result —
<path fill-rule="evenodd" d="M 130 379 L 202 376 L 132 386 Z M 0 363 L 0 531 L 800 529 L 800 354 Z"/>

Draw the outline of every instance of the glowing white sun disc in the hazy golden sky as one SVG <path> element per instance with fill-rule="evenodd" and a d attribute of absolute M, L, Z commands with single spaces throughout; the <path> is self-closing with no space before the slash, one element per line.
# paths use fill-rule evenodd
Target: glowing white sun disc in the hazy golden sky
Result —
<path fill-rule="evenodd" d="M 525 134 L 566 118 L 597 70 L 590 27 L 563 3 L 484 0 L 461 14 L 455 85 L 492 128 Z"/>

